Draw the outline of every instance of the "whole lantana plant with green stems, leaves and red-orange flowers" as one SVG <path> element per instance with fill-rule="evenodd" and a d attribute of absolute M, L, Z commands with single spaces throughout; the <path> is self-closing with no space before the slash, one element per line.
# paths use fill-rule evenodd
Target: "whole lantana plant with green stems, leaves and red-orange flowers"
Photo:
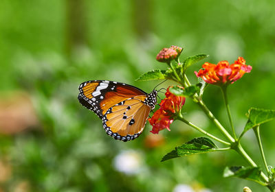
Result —
<path fill-rule="evenodd" d="M 165 94 L 166 98 L 161 101 L 159 109 L 156 110 L 153 117 L 148 120 L 151 125 L 153 125 L 153 130 L 151 130 L 151 132 L 158 134 L 160 130 L 169 130 L 170 124 L 175 120 L 179 120 L 190 125 L 192 128 L 195 128 L 195 130 L 198 130 L 202 134 L 205 134 L 207 137 L 195 138 L 179 147 L 175 147 L 173 151 L 169 152 L 162 158 L 162 161 L 181 156 L 189 156 L 191 154 L 234 150 L 242 156 L 250 166 L 225 167 L 223 176 L 226 178 L 237 177 L 252 180 L 267 187 L 270 191 L 275 191 L 275 167 L 267 165 L 263 146 L 261 144 L 259 129 L 261 124 L 275 118 L 275 110 L 250 108 L 247 114 L 248 122 L 243 128 L 243 132 L 237 136 L 228 104 L 228 86 L 233 84 L 236 80 L 239 80 L 245 73 L 250 73 L 252 67 L 245 64 L 245 60 L 241 57 L 239 57 L 233 64 L 229 64 L 228 61 L 221 61 L 218 62 L 218 64 L 205 62 L 202 65 L 202 69 L 198 72 L 195 71 L 195 74 L 198 77 L 198 82 L 196 82 L 196 84 L 191 84 L 186 76 L 186 70 L 192 64 L 207 58 L 208 55 L 199 54 L 191 56 L 181 62 L 179 56 L 182 50 L 181 47 L 177 46 L 162 49 L 157 55 L 157 61 L 166 63 L 168 68 L 166 70 L 156 69 L 149 71 L 137 79 L 140 81 L 172 80 L 180 85 L 169 86 L 167 88 Z M 227 111 L 230 122 L 231 132 L 225 129 L 203 102 L 203 91 L 207 88 L 208 84 L 219 86 L 221 89 L 223 100 L 225 102 L 225 110 Z M 201 108 L 210 121 L 212 121 L 221 134 L 223 134 L 225 139 L 210 134 L 210 132 L 199 128 L 197 125 L 186 119 L 182 112 L 182 107 L 184 106 L 186 98 L 191 99 Z M 252 160 L 252 157 L 245 152 L 241 145 L 242 136 L 250 129 L 254 130 L 256 135 L 261 152 L 260 154 L 265 165 L 265 171 L 261 170 L 259 165 Z M 226 145 L 226 147 L 217 147 L 211 139 Z"/>

